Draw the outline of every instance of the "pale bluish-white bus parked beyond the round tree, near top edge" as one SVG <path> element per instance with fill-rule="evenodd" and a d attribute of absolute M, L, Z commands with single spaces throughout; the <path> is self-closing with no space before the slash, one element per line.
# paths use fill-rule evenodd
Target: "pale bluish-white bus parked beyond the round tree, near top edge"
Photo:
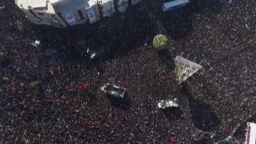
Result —
<path fill-rule="evenodd" d="M 175 9 L 175 8 L 185 6 L 187 3 L 189 3 L 189 0 L 170 1 L 170 2 L 167 2 L 167 3 L 163 3 L 162 9 L 163 9 L 163 11 L 168 11 L 168 10 L 172 10 L 172 9 Z"/>

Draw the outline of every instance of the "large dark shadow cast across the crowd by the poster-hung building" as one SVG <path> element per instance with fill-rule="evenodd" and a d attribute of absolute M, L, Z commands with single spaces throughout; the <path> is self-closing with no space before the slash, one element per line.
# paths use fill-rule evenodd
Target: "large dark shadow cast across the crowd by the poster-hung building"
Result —
<path fill-rule="evenodd" d="M 28 37 L 36 37 L 41 41 L 45 51 L 54 48 L 67 56 L 67 61 L 85 63 L 90 60 L 91 51 L 104 50 L 102 59 L 113 59 L 125 56 L 134 49 L 142 47 L 147 37 L 154 37 L 155 29 L 141 5 L 127 9 L 125 13 L 114 14 L 101 21 L 55 28 L 45 25 L 33 25 L 33 32 L 28 31 Z M 136 15 L 136 16 L 134 16 Z M 81 45 L 79 41 L 84 41 Z M 148 41 L 149 43 L 149 41 Z M 90 52 L 87 53 L 87 48 Z M 96 53 L 97 54 L 97 53 Z"/>

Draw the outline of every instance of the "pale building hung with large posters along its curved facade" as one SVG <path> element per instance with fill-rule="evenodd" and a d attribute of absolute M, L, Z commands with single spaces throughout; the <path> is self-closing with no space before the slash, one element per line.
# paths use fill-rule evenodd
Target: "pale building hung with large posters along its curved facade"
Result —
<path fill-rule="evenodd" d="M 142 0 L 15 0 L 26 18 L 36 24 L 66 27 L 84 22 L 91 24 L 110 17 Z"/>

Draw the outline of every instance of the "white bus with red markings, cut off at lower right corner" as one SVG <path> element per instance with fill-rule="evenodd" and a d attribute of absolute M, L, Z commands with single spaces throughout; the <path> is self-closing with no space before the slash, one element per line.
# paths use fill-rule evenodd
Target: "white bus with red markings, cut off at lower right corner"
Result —
<path fill-rule="evenodd" d="M 244 144 L 256 144 L 256 124 L 247 123 L 245 142 Z"/>

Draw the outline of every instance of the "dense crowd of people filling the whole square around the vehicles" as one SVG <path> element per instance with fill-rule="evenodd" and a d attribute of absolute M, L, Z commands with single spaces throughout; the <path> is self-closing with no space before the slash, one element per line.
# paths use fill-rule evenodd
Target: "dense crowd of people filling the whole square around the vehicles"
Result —
<path fill-rule="evenodd" d="M 206 144 L 249 115 L 255 120 L 255 1 L 167 13 L 149 4 L 60 29 L 31 24 L 14 1 L 2 0 L 0 143 Z M 158 33 L 171 38 L 163 51 L 151 44 Z M 91 59 L 87 49 L 99 46 L 105 51 Z M 204 61 L 204 70 L 178 85 L 176 55 Z M 100 91 L 108 82 L 127 88 L 122 102 Z M 178 109 L 157 108 L 174 98 Z M 234 135 L 240 143 L 243 130 Z"/>

